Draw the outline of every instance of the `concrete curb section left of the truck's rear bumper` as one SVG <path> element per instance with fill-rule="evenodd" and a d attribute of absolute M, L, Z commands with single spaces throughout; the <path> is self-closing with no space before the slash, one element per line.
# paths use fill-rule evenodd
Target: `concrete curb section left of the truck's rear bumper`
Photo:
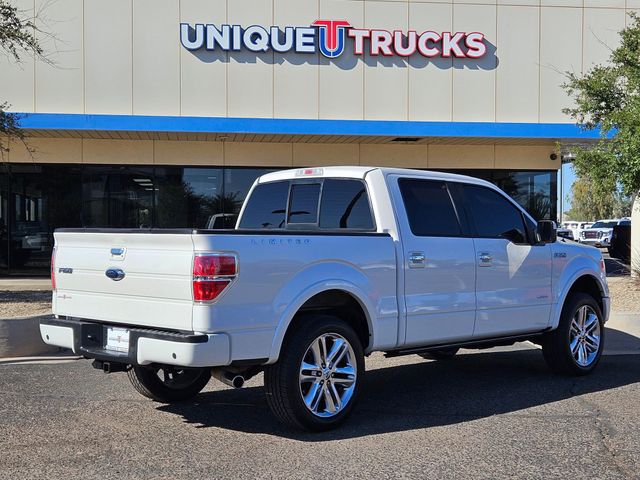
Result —
<path fill-rule="evenodd" d="M 0 318 L 0 358 L 31 357 L 58 353 L 62 349 L 47 345 L 40 337 L 40 320 L 52 315 Z"/>

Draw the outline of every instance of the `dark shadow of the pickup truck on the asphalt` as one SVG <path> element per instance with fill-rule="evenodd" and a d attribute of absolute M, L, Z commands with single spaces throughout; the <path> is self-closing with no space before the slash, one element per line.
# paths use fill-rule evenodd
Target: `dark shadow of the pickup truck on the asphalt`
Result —
<path fill-rule="evenodd" d="M 415 358 L 415 363 L 367 371 L 365 389 L 353 415 L 330 432 L 300 433 L 281 425 L 271 415 L 264 390 L 258 386 L 208 391 L 194 402 L 165 405 L 159 410 L 180 415 L 198 428 L 322 442 L 455 425 L 640 382 L 640 355 L 631 354 L 604 356 L 594 374 L 578 378 L 552 374 L 538 350 L 470 353 L 441 362 L 410 358 Z"/>

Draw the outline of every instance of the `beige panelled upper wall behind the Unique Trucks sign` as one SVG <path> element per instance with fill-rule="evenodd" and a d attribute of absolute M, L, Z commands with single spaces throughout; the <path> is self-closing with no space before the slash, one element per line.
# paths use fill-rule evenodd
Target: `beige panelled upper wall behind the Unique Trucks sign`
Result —
<path fill-rule="evenodd" d="M 605 60 L 640 0 L 12 0 L 40 11 L 53 65 L 0 58 L 15 111 L 266 118 L 566 122 L 562 72 Z M 481 31 L 466 60 L 194 55 L 180 22 Z M 251 147 L 254 148 L 254 147 Z M 141 152 L 141 155 L 144 152 Z M 97 154 L 96 154 L 97 155 Z M 146 155 L 146 154 L 145 154 Z"/>

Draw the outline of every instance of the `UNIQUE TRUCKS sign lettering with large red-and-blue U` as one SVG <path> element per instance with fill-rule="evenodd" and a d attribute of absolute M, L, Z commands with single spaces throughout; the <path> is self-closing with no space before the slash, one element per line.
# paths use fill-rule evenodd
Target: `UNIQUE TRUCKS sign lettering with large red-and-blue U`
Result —
<path fill-rule="evenodd" d="M 269 28 L 260 25 L 180 24 L 180 41 L 188 50 L 318 53 L 336 58 L 352 40 L 353 54 L 409 57 L 480 58 L 487 53 L 479 32 L 434 32 L 354 28 L 346 20 L 316 20 L 310 26 Z"/>

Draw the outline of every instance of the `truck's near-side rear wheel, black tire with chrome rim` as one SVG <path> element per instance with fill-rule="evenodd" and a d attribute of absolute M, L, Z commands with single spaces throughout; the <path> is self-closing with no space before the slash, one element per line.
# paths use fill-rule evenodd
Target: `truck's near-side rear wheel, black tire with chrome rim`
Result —
<path fill-rule="evenodd" d="M 283 423 L 325 431 L 343 423 L 360 396 L 364 353 L 356 332 L 340 318 L 308 315 L 265 370 L 267 403 Z"/>

